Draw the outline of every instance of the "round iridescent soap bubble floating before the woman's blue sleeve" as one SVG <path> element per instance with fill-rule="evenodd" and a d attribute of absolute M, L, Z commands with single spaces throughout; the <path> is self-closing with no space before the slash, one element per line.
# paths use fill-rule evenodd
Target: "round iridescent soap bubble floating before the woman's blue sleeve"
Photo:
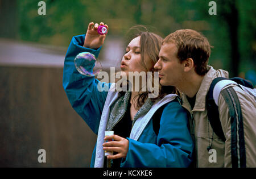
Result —
<path fill-rule="evenodd" d="M 77 71 L 85 76 L 96 76 L 102 70 L 100 61 L 96 60 L 96 57 L 89 52 L 79 53 L 79 55 L 76 56 L 74 63 Z"/>

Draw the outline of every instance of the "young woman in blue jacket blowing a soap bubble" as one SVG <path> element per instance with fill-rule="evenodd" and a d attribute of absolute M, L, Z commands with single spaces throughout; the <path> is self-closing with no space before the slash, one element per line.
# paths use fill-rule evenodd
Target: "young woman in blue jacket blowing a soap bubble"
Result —
<path fill-rule="evenodd" d="M 159 95 L 148 98 L 148 91 L 115 91 L 105 83 L 77 72 L 74 59 L 81 52 L 98 56 L 106 34 L 98 34 L 98 24 L 89 23 L 86 35 L 74 36 L 64 62 L 63 87 L 73 109 L 85 120 L 97 143 L 91 167 L 104 167 L 104 151 L 112 151 L 112 167 L 187 167 L 191 164 L 192 138 L 187 113 L 181 107 L 174 87 L 168 92 L 159 86 Z M 106 30 L 109 27 L 105 26 Z M 151 72 L 162 45 L 160 36 L 138 32 L 126 47 L 121 61 L 122 73 Z M 158 85 L 158 84 L 157 84 Z M 98 90 L 98 86 L 109 91 Z M 160 122 L 155 113 L 163 109 Z M 154 123 L 154 124 L 153 124 Z M 155 125 L 160 127 L 154 130 Z M 114 135 L 105 136 L 105 131 Z M 108 142 L 104 142 L 108 140 Z"/>

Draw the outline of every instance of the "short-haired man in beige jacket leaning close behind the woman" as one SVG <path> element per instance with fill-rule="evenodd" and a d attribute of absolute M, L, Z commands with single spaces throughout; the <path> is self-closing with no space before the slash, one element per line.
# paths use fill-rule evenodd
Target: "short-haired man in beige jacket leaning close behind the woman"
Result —
<path fill-rule="evenodd" d="M 221 84 L 224 88 L 214 99 L 219 115 L 209 115 L 213 107 L 207 106 L 206 99 L 212 81 L 228 78 L 225 70 L 208 66 L 210 48 L 207 38 L 194 30 L 177 30 L 168 35 L 154 66 L 159 71 L 159 82 L 183 93 L 182 106 L 191 113 L 197 167 L 256 167 L 255 94 L 234 83 Z M 213 130 L 218 122 L 222 137 Z"/>

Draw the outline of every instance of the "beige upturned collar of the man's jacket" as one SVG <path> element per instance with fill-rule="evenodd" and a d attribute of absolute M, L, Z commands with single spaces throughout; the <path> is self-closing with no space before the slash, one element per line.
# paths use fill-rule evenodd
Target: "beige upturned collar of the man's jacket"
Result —
<path fill-rule="evenodd" d="M 225 77 L 228 78 L 229 73 L 225 70 L 215 70 L 212 66 L 208 66 L 209 70 L 207 74 L 205 74 L 203 81 L 201 82 L 201 86 L 196 94 L 196 102 L 193 109 L 188 102 L 187 95 L 182 95 L 182 106 L 189 111 L 204 111 L 205 110 L 205 98 L 210 88 L 210 84 L 216 77 Z"/>

